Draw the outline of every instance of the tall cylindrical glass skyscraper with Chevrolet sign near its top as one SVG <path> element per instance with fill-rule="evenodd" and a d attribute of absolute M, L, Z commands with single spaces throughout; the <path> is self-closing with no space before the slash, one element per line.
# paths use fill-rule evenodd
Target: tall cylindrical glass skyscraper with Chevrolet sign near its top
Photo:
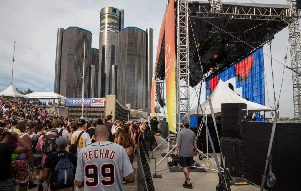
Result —
<path fill-rule="evenodd" d="M 104 7 L 100 11 L 98 97 L 116 94 L 118 31 L 123 28 L 124 11 Z"/>

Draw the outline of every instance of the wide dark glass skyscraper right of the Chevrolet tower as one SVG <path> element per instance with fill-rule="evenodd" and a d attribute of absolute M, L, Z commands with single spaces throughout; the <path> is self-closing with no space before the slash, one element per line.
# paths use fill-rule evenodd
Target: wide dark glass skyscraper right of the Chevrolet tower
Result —
<path fill-rule="evenodd" d="M 119 31 L 117 100 L 131 109 L 146 109 L 148 79 L 152 78 L 152 29 L 137 27 Z M 150 70 L 150 71 L 149 71 Z M 150 83 L 151 85 L 151 83 Z"/>

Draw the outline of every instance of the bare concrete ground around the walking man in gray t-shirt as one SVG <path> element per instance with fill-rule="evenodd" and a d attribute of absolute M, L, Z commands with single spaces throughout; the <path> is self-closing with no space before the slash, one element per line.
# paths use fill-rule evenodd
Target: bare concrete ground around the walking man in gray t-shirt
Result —
<path fill-rule="evenodd" d="M 161 143 L 163 138 L 157 137 L 157 143 Z M 164 142 L 162 144 L 161 153 L 165 153 L 168 148 L 168 143 Z M 160 149 L 157 149 L 153 153 L 156 157 L 156 163 L 158 163 L 161 158 L 163 158 L 160 154 Z M 157 155 L 159 154 L 159 155 Z M 211 159 L 213 159 L 213 154 Z M 150 152 L 151 156 L 151 152 Z M 197 157 L 194 157 L 196 160 Z M 206 160 L 206 159 L 205 159 Z M 171 161 L 170 157 L 168 157 L 168 161 Z M 203 160 L 198 160 L 198 163 L 205 167 Z M 151 169 L 151 173 L 155 173 L 155 160 L 150 159 L 149 166 Z M 164 169 L 167 167 L 166 158 L 157 166 L 157 170 Z M 212 163 L 211 168 L 217 169 L 216 165 Z M 218 184 L 218 175 L 216 171 L 206 170 L 207 172 L 192 172 L 190 173 L 190 181 L 192 183 L 192 190 L 204 190 L 204 191 L 214 191 L 216 185 Z M 154 178 L 154 185 L 157 191 L 182 191 L 188 190 L 183 187 L 183 183 L 185 180 L 184 174 L 182 172 L 170 172 L 169 169 L 158 172 L 157 174 L 161 174 L 162 178 Z M 244 185 L 244 186 L 231 186 L 232 191 L 258 191 L 260 188 L 256 185 Z"/>

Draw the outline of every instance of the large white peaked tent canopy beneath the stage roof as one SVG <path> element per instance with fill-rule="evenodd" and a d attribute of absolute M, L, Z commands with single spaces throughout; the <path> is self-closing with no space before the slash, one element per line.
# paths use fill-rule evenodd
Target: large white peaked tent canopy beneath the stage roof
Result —
<path fill-rule="evenodd" d="M 210 95 L 213 111 L 215 115 L 221 115 L 222 103 L 246 103 L 249 113 L 257 111 L 271 111 L 272 106 L 264 106 L 258 103 L 247 101 L 232 91 L 222 80 L 216 85 L 214 91 Z M 205 115 L 211 114 L 208 99 L 202 104 L 202 109 Z M 197 107 L 190 110 L 190 116 L 197 115 Z M 202 115 L 201 107 L 199 107 L 199 115 Z"/>

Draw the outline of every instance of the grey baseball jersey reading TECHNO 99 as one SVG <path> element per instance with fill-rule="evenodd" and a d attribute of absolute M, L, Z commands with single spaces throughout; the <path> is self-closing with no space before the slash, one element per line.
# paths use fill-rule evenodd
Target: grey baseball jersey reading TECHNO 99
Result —
<path fill-rule="evenodd" d="M 134 170 L 124 148 L 106 141 L 92 143 L 78 154 L 75 179 L 85 191 L 123 190 L 123 177 Z"/>

